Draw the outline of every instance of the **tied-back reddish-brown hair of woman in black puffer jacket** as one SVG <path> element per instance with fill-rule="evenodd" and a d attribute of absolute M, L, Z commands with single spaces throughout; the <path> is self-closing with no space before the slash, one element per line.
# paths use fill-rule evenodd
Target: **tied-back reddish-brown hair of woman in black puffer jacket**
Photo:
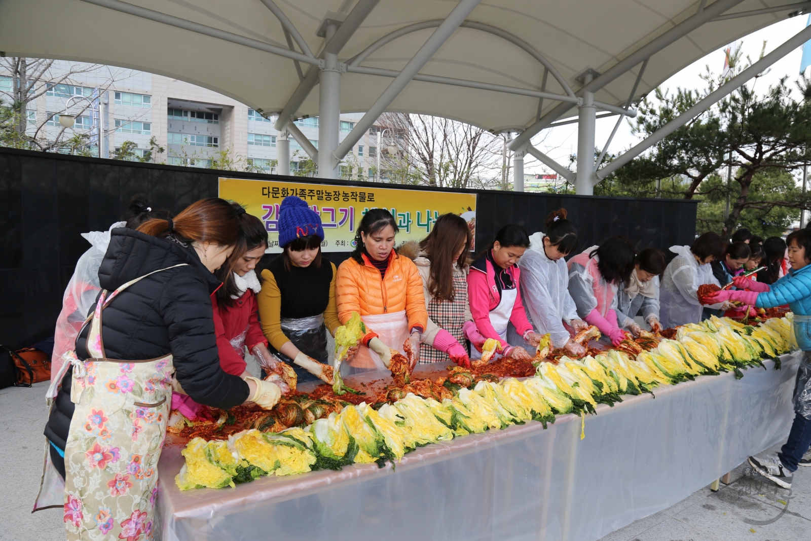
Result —
<path fill-rule="evenodd" d="M 174 233 L 188 241 L 218 246 L 235 246 L 242 237 L 236 209 L 219 197 L 195 201 L 169 220 L 145 221 L 138 230 L 152 237 Z"/>

